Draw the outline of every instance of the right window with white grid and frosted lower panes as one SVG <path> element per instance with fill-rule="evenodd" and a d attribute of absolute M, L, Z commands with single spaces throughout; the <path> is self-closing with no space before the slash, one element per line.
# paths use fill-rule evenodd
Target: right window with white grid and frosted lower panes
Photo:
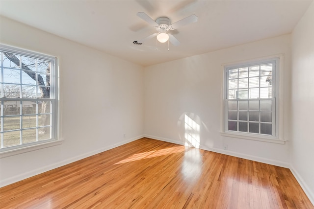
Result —
<path fill-rule="evenodd" d="M 224 132 L 278 138 L 279 59 L 225 67 Z"/>

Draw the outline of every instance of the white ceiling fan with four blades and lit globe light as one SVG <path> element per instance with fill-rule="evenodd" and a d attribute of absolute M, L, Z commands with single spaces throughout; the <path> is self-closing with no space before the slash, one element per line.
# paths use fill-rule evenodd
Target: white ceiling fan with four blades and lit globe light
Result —
<path fill-rule="evenodd" d="M 149 17 L 146 13 L 144 12 L 138 12 L 137 16 L 149 23 L 150 25 L 154 26 L 155 29 L 157 30 L 157 33 L 154 33 L 152 35 L 149 35 L 139 41 L 134 41 L 133 44 L 136 45 L 142 45 L 146 40 L 154 38 L 157 36 L 157 40 L 160 43 L 165 43 L 166 41 L 169 40 L 171 44 L 174 46 L 180 45 L 180 42 L 176 37 L 174 37 L 171 33 L 169 33 L 169 30 L 175 30 L 181 26 L 190 24 L 190 23 L 195 23 L 197 22 L 198 17 L 196 15 L 191 15 L 188 16 L 180 21 L 177 21 L 175 23 L 170 22 L 170 19 L 167 17 L 160 17 L 157 18 L 156 21 L 154 21 L 151 17 Z"/>

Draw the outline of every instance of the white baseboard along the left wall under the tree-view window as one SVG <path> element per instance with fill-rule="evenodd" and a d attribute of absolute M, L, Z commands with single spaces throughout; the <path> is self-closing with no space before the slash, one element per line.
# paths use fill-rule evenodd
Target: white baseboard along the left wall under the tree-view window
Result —
<path fill-rule="evenodd" d="M 22 180 L 27 179 L 29 177 L 32 177 L 32 176 L 35 176 L 35 175 L 47 172 L 49 170 L 61 167 L 63 165 L 69 164 L 69 163 L 74 163 L 74 162 L 79 161 L 81 159 L 90 157 L 92 155 L 96 155 L 96 154 L 101 153 L 101 152 L 105 152 L 105 151 L 107 151 L 109 149 L 121 146 L 123 144 L 135 141 L 137 139 L 141 139 L 143 137 L 144 137 L 144 135 L 140 135 L 140 136 L 137 136 L 137 137 L 134 137 L 134 138 L 131 138 L 131 139 L 126 139 L 126 140 L 118 142 L 116 144 L 105 146 L 105 147 L 102 147 L 102 148 L 100 148 L 98 150 L 94 150 L 92 152 L 84 153 L 84 154 L 75 156 L 73 158 L 69 158 L 69 159 L 66 159 L 64 161 L 60 161 L 58 163 L 53 163 L 53 164 L 50 164 L 50 165 L 47 165 L 47 166 L 44 166 L 44 167 L 41 167 L 41 168 L 38 168 L 38 169 L 35 169 L 35 170 L 32 170 L 32 171 L 29 171 L 29 172 L 26 172 L 26 173 L 23 173 L 23 174 L 20 174 L 20 175 L 12 176 L 12 177 L 7 178 L 7 179 L 2 179 L 1 182 L 0 182 L 0 187 L 7 186 L 7 185 L 10 185 L 10 184 L 22 181 Z"/>

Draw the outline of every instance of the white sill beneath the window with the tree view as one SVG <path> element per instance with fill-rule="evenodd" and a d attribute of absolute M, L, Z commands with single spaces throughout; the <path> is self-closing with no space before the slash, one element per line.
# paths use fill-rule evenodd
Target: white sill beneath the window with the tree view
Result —
<path fill-rule="evenodd" d="M 56 146 L 56 145 L 62 144 L 63 141 L 64 140 L 61 139 L 61 140 L 55 140 L 55 141 L 50 141 L 50 142 L 46 142 L 46 143 L 35 144 L 35 145 L 27 146 L 27 147 L 21 147 L 21 148 L 17 148 L 17 149 L 3 151 L 3 152 L 0 152 L 0 158 L 6 158 L 9 156 L 13 156 L 13 155 L 18 155 L 18 154 L 38 150 L 38 149 Z"/>

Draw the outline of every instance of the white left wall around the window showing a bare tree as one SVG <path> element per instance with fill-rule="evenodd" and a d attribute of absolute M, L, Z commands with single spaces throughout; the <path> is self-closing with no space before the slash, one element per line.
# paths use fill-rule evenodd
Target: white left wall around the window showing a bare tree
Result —
<path fill-rule="evenodd" d="M 1 186 L 143 137 L 143 67 L 4 17 L 0 26 L 1 44 L 58 57 L 64 139 L 0 159 Z"/>

